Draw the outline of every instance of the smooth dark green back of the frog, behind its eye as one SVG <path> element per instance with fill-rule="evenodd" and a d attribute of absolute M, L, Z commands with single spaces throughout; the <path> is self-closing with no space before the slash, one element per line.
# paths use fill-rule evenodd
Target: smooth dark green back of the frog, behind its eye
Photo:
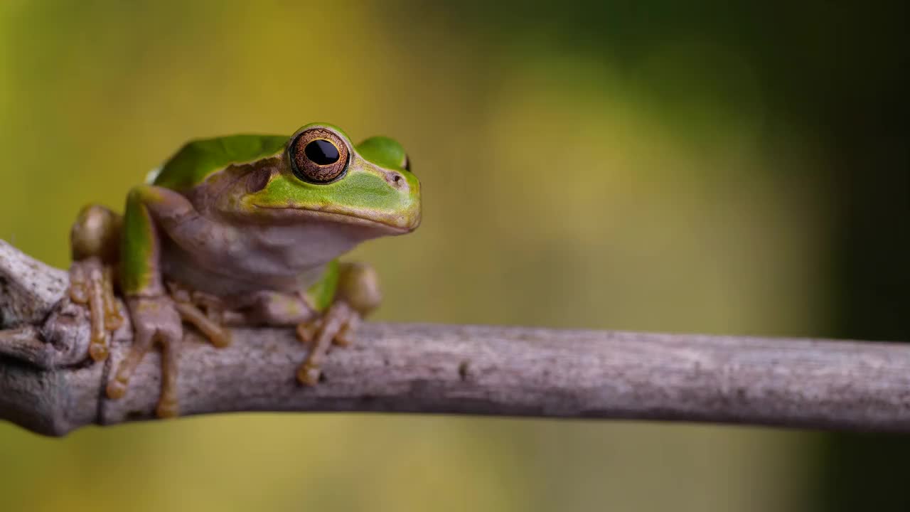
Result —
<path fill-rule="evenodd" d="M 284 135 L 232 135 L 191 140 L 160 170 L 153 171 L 148 181 L 158 187 L 184 191 L 229 165 L 274 156 L 287 142 L 288 136 Z"/>

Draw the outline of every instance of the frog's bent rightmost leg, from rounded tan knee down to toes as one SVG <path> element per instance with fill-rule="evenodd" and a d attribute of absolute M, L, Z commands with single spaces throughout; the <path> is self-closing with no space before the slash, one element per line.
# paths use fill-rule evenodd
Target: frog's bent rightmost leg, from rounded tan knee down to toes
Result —
<path fill-rule="evenodd" d="M 300 384 L 319 383 L 319 363 L 331 344 L 353 343 L 360 321 L 379 306 L 379 277 L 364 263 L 339 264 L 337 288 L 326 312 L 317 320 L 299 323 L 298 339 L 310 344 L 310 350 L 297 372 Z"/>

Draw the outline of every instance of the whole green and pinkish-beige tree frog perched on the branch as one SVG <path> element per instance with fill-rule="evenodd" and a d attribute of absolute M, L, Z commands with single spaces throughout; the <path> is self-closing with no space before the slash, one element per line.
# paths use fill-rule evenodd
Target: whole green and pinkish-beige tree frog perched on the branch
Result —
<path fill-rule="evenodd" d="M 420 224 L 420 182 L 404 148 L 386 137 L 354 146 L 325 123 L 289 138 L 195 140 L 150 178 L 129 191 L 122 217 L 98 205 L 80 211 L 69 294 L 86 305 L 95 361 L 123 322 L 115 293 L 124 295 L 134 340 L 106 394 L 123 396 L 159 343 L 161 417 L 179 412 L 184 323 L 216 346 L 230 343 L 230 326 L 296 326 L 311 345 L 298 380 L 316 384 L 329 346 L 351 343 L 380 300 L 375 271 L 338 257 Z"/>

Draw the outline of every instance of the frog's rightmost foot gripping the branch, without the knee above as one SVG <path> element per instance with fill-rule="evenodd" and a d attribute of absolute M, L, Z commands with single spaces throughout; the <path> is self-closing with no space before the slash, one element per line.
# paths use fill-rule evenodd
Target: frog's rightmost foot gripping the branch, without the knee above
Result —
<path fill-rule="evenodd" d="M 329 306 L 329 311 L 322 317 L 297 326 L 297 337 L 302 343 L 310 345 L 307 359 L 297 371 L 300 384 L 316 385 L 319 383 L 319 362 L 329 351 L 331 344 L 348 346 L 354 338 L 360 324 L 360 313 L 348 302 L 336 301 Z"/>

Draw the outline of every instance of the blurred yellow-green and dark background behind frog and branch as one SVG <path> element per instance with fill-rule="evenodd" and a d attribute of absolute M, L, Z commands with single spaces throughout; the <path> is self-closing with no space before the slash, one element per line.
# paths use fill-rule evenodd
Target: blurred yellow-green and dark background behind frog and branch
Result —
<path fill-rule="evenodd" d="M 0 2 L 0 238 L 187 138 L 387 134 L 420 230 L 376 318 L 910 340 L 905 3 Z M 768 428 L 223 415 L 0 425 L 0 509 L 910 510 L 910 442 Z"/>

